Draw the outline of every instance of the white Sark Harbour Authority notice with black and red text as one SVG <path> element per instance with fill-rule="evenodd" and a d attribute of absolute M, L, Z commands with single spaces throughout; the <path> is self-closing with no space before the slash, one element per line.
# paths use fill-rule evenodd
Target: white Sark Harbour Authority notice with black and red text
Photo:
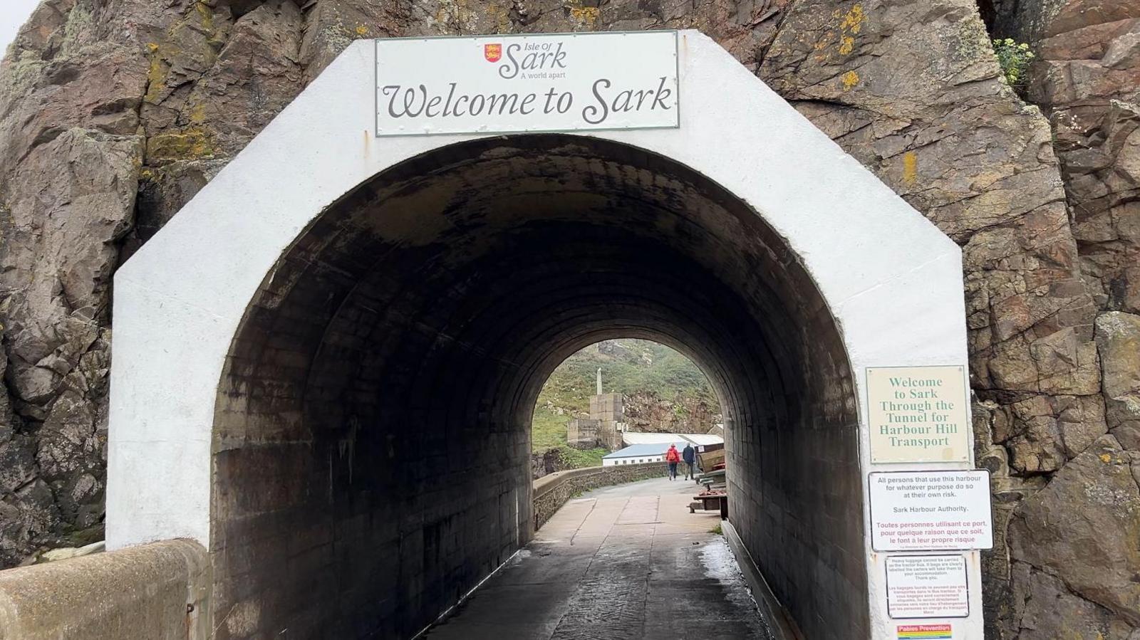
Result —
<path fill-rule="evenodd" d="M 990 471 L 873 471 L 868 476 L 876 551 L 993 547 Z"/>

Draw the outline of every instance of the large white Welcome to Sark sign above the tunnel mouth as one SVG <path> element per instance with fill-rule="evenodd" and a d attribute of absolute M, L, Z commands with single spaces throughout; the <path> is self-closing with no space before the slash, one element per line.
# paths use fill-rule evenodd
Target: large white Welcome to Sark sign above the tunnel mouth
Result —
<path fill-rule="evenodd" d="M 674 31 L 375 42 L 376 136 L 681 123 Z"/>

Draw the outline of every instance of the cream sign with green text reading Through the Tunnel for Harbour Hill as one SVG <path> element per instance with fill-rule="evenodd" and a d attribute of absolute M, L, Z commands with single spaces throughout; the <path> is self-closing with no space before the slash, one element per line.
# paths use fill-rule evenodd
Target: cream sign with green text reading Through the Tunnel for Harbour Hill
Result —
<path fill-rule="evenodd" d="M 966 462 L 970 412 L 962 367 L 868 367 L 871 462 Z"/>

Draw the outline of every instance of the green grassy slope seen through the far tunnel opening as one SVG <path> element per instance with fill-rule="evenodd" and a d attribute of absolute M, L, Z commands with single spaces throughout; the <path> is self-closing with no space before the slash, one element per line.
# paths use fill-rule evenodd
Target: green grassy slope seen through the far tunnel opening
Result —
<path fill-rule="evenodd" d="M 591 345 L 565 360 L 546 380 L 531 422 L 531 449 L 557 448 L 569 468 L 596 467 L 605 449 L 579 451 L 567 446 L 567 422 L 578 412 L 589 413 L 595 372 L 602 368 L 605 393 L 656 392 L 662 399 L 703 397 L 715 403 L 705 374 L 687 358 L 657 343 L 638 339 L 608 340 L 603 352 Z M 562 409 L 562 415 L 557 410 Z"/>

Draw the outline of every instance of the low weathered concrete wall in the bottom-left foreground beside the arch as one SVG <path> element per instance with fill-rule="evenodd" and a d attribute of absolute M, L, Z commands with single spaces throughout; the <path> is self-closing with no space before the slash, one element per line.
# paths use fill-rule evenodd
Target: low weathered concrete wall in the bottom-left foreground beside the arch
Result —
<path fill-rule="evenodd" d="M 168 540 L 0 572 L 0 640 L 206 640 L 210 564 Z"/>

